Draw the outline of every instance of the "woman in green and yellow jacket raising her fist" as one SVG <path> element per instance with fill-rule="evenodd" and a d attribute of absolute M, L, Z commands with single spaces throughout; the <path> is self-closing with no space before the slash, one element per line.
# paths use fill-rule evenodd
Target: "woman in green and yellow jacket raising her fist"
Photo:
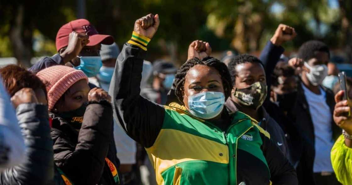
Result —
<path fill-rule="evenodd" d="M 136 21 L 109 92 L 114 118 L 145 147 L 157 183 L 297 184 L 294 168 L 270 135 L 244 113 L 224 109 L 231 76 L 224 63 L 207 56 L 208 43 L 195 42 L 193 57 L 176 74 L 181 105 L 158 105 L 139 95 L 146 47 L 158 26 L 158 15 Z"/>

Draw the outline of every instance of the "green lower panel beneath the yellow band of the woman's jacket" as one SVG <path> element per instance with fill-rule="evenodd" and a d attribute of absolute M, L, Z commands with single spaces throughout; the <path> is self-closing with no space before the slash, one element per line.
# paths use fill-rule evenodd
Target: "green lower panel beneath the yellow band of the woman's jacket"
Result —
<path fill-rule="evenodd" d="M 216 185 L 229 184 L 228 165 L 210 161 L 187 161 L 176 165 L 182 168 L 182 185 Z M 165 185 L 174 180 L 175 166 L 162 173 Z"/>

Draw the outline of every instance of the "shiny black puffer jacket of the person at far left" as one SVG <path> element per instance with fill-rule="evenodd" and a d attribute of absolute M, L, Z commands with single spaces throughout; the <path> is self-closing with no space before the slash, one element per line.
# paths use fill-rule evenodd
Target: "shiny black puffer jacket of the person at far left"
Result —
<path fill-rule="evenodd" d="M 26 144 L 26 159 L 23 164 L 1 172 L 0 184 L 55 184 L 48 106 L 20 104 L 16 113 Z M 58 178 L 56 184 L 60 181 Z"/>

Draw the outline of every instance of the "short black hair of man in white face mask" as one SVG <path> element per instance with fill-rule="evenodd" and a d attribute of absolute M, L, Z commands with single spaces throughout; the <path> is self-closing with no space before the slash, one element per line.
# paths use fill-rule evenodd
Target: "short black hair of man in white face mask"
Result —
<path fill-rule="evenodd" d="M 298 57 L 302 58 L 304 61 L 308 61 L 309 59 L 316 57 L 316 51 L 327 53 L 330 58 L 329 47 L 325 43 L 316 40 L 303 43 L 298 50 Z"/>

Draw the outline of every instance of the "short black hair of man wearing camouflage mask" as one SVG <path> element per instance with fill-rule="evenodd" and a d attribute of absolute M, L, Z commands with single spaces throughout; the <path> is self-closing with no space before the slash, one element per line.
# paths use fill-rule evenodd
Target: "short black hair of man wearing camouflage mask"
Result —
<path fill-rule="evenodd" d="M 236 66 L 238 64 L 242 64 L 242 63 L 259 63 L 260 65 L 263 65 L 263 62 L 259 60 L 259 58 L 257 58 L 256 56 L 253 55 L 249 55 L 249 54 L 241 54 L 241 55 L 237 55 L 234 58 L 231 59 L 231 62 L 228 63 L 228 70 L 230 72 L 231 75 L 231 80 L 232 80 L 232 85 L 235 84 L 235 80 L 236 80 Z"/>

